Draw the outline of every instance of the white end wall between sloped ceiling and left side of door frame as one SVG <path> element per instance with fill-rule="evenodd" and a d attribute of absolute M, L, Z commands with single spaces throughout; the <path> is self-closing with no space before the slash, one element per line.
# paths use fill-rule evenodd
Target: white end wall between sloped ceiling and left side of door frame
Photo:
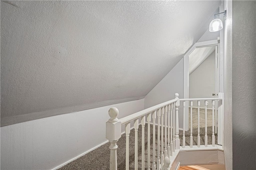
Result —
<path fill-rule="evenodd" d="M 183 99 L 183 58 L 174 68 L 146 95 L 144 98 L 144 108 L 174 99 L 174 94 L 179 93 L 179 98 Z M 179 110 L 182 116 L 183 110 Z M 179 117 L 179 125 L 183 127 L 182 117 Z"/>

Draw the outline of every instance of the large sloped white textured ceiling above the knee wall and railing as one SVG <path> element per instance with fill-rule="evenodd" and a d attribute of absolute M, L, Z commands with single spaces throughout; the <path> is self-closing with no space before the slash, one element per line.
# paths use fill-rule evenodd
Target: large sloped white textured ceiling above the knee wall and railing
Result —
<path fill-rule="evenodd" d="M 1 126 L 141 99 L 220 1 L 1 1 Z"/>

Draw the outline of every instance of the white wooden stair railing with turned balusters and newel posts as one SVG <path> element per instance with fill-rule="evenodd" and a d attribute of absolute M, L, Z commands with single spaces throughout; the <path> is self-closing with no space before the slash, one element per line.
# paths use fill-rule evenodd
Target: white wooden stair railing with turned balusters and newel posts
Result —
<path fill-rule="evenodd" d="M 129 170 L 129 136 L 131 129 L 131 122 L 134 122 L 135 131 L 135 142 L 134 142 L 134 170 L 138 170 L 138 128 L 141 125 L 142 130 L 142 162 L 141 169 L 145 169 L 145 148 L 144 148 L 144 134 L 145 125 L 148 124 L 148 147 L 147 147 L 147 167 L 150 170 L 170 170 L 171 162 L 170 159 L 180 150 L 180 137 L 179 137 L 179 106 L 180 102 L 183 103 L 183 136 L 182 136 L 182 148 L 185 148 L 185 105 L 186 102 L 190 103 L 190 148 L 193 148 L 193 136 L 192 136 L 192 107 L 193 103 L 196 102 L 198 106 L 198 140 L 197 147 L 200 148 L 200 101 L 204 100 L 205 108 L 205 141 L 204 146 L 208 147 L 208 136 L 207 136 L 207 106 L 208 101 L 212 102 L 212 146 L 215 146 L 215 135 L 214 135 L 214 107 L 216 101 L 222 101 L 222 98 L 207 98 L 207 99 L 179 99 L 178 93 L 175 93 L 175 99 L 155 105 L 148 109 L 144 109 L 140 112 L 134 113 L 127 117 L 118 119 L 119 111 L 117 108 L 112 107 L 109 109 L 108 114 L 110 119 L 106 122 L 106 138 L 110 142 L 110 170 L 117 170 L 117 155 L 116 150 L 118 148 L 117 141 L 121 137 L 121 126 L 125 126 L 126 134 L 126 170 Z M 152 123 L 151 123 L 152 118 Z M 140 123 L 139 123 L 140 119 Z M 157 123 L 156 123 L 157 121 Z M 153 124 L 153 147 L 150 148 L 150 125 Z M 156 138 L 156 126 L 157 126 L 157 138 Z M 160 131 L 161 128 L 161 131 Z M 161 132 L 161 135 L 160 135 Z M 161 137 L 161 138 L 160 138 Z M 156 141 L 157 140 L 157 141 Z M 157 146 L 157 152 L 156 152 Z M 150 162 L 150 152 L 153 155 L 153 161 Z"/>

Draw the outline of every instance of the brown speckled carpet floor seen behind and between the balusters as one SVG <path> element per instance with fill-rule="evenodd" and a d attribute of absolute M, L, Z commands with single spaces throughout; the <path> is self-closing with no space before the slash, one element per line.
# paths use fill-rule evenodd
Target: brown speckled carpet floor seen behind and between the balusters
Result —
<path fill-rule="evenodd" d="M 197 109 L 193 108 L 192 111 L 192 120 L 193 120 L 193 145 L 197 145 L 197 131 L 198 131 L 198 118 L 197 114 L 198 111 Z M 207 113 L 207 135 L 208 135 L 208 144 L 212 144 L 212 110 L 209 110 Z M 190 118 L 190 115 L 189 115 Z M 195 120 L 195 121 L 194 121 Z M 190 127 L 190 125 L 189 125 Z M 150 125 L 150 148 L 153 148 L 153 134 L 152 134 L 152 129 L 153 126 Z M 157 131 L 157 127 L 156 127 Z M 180 130 L 179 135 L 180 135 L 180 144 L 182 145 L 182 132 Z M 204 133 L 205 133 L 205 113 L 204 109 L 200 109 L 200 144 L 204 144 Z M 148 134 L 148 126 L 146 124 L 145 126 L 145 168 L 147 168 L 147 146 L 148 146 L 148 139 L 147 139 L 147 134 Z M 161 134 L 161 133 L 160 133 Z M 138 130 L 138 136 L 141 136 L 141 126 L 139 127 Z M 190 144 L 190 130 L 185 132 L 185 140 L 186 140 L 186 145 Z M 130 132 L 130 169 L 134 169 L 134 129 L 131 130 Z M 138 138 L 138 167 L 141 167 L 141 138 Z M 156 143 L 157 143 L 157 132 L 156 132 Z M 215 143 L 217 143 L 217 136 L 215 134 Z M 118 170 L 125 170 L 125 150 L 126 150 L 126 136 L 123 134 L 121 138 L 118 140 L 118 149 L 117 149 L 117 162 L 118 162 Z M 69 164 L 63 166 L 59 170 L 108 170 L 109 169 L 109 159 L 110 159 L 110 149 L 109 149 L 109 143 L 104 144 L 100 146 L 99 148 L 96 148 L 95 150 L 89 152 L 88 154 L 85 154 L 84 156 L 81 156 L 80 158 L 70 162 Z M 156 145 L 157 149 L 157 145 Z M 150 152 L 150 167 L 152 167 L 152 151 Z"/>

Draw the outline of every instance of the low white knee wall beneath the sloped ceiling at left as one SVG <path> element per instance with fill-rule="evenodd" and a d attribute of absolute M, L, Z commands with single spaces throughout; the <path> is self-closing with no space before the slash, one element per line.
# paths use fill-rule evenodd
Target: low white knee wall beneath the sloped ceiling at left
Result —
<path fill-rule="evenodd" d="M 106 142 L 110 107 L 122 118 L 144 99 L 1 127 L 1 169 L 52 169 Z"/>

